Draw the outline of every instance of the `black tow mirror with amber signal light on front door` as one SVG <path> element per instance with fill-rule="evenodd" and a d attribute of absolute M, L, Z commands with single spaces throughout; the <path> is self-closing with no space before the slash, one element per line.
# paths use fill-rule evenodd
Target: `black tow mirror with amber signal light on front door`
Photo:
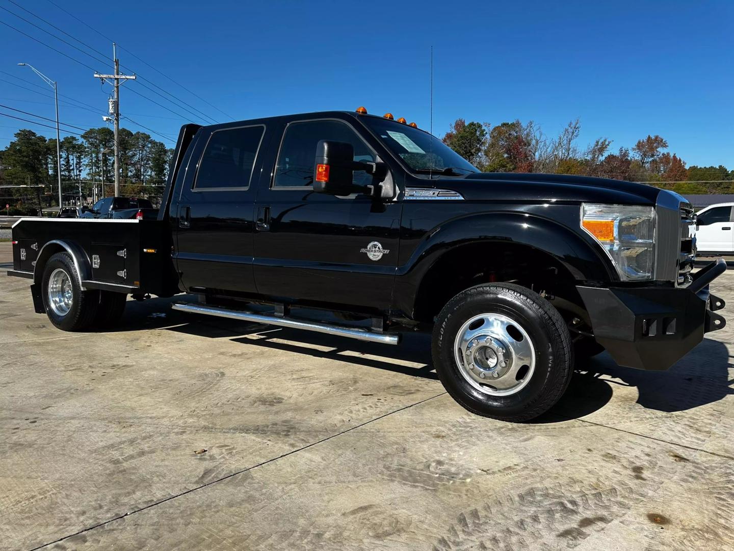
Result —
<path fill-rule="evenodd" d="M 375 186 L 357 186 L 352 178 L 355 170 L 364 170 L 385 179 L 387 167 L 382 162 L 355 161 L 355 148 L 351 143 L 321 140 L 316 145 L 316 163 L 313 169 L 313 191 L 330 195 L 368 193 L 374 195 Z"/>

